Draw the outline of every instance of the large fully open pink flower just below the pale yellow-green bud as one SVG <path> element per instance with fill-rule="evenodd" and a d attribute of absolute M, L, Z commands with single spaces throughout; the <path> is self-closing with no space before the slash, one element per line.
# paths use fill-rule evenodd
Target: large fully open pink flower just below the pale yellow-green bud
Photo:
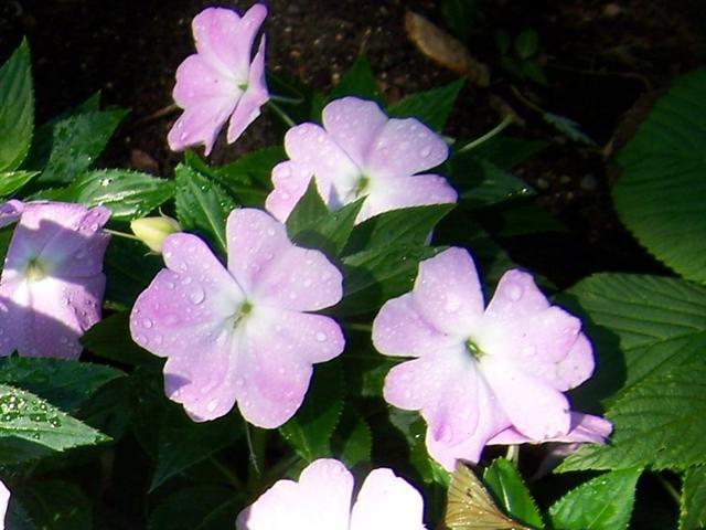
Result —
<path fill-rule="evenodd" d="M 168 358 L 167 396 L 194 421 L 223 416 L 237 402 L 248 422 L 278 427 L 301 405 L 312 363 L 343 351 L 339 325 L 304 312 L 336 304 L 342 276 L 263 211 L 234 210 L 226 236 L 227 269 L 195 235 L 165 237 L 168 268 L 135 303 L 130 331 Z"/>

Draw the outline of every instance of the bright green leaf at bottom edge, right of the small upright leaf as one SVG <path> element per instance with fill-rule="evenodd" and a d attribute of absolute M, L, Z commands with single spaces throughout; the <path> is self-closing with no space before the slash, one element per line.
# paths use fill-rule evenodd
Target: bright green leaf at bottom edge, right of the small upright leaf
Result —
<path fill-rule="evenodd" d="M 580 485 L 552 505 L 552 524 L 561 530 L 624 530 L 641 474 L 640 468 L 620 469 Z"/>

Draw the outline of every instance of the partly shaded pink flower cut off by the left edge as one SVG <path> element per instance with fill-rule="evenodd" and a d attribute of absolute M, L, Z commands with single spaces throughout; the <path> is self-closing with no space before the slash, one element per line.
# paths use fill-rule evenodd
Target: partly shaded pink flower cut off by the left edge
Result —
<path fill-rule="evenodd" d="M 0 356 L 81 354 L 78 338 L 100 320 L 109 216 L 65 202 L 0 206 L 0 224 L 19 219 L 0 279 Z"/>

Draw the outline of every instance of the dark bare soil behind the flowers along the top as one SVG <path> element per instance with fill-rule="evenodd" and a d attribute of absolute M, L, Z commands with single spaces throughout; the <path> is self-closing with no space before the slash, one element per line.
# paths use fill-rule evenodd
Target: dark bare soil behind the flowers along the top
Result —
<path fill-rule="evenodd" d="M 168 176 L 180 155 L 165 144 L 174 113 L 173 73 L 192 53 L 190 21 L 205 0 L 0 0 L 0 57 L 26 35 L 32 49 L 38 121 L 101 91 L 106 105 L 131 108 L 104 163 Z M 250 2 L 236 1 L 243 11 Z M 437 2 L 427 0 L 270 0 L 268 66 L 318 89 L 328 89 L 365 53 L 392 102 L 440 86 L 457 74 L 424 56 L 406 38 L 413 10 L 443 26 Z M 491 84 L 467 84 L 449 124 L 451 136 L 473 138 L 500 120 L 489 104 L 500 97 L 524 120 L 509 134 L 549 142 L 518 174 L 538 191 L 537 204 L 567 224 L 568 233 L 504 241 L 512 256 L 558 285 L 596 271 L 661 272 L 620 226 L 609 187 L 617 168 L 610 155 L 630 137 L 645 102 L 671 80 L 705 62 L 706 6 L 688 0 L 478 0 L 468 46 L 490 67 Z M 534 29 L 543 85 L 503 68 L 498 31 Z M 520 96 L 517 95 L 520 94 Z M 569 117 L 596 141 L 570 141 L 543 123 L 539 106 Z M 216 163 L 276 141 L 268 117 L 234 146 L 220 144 Z"/>

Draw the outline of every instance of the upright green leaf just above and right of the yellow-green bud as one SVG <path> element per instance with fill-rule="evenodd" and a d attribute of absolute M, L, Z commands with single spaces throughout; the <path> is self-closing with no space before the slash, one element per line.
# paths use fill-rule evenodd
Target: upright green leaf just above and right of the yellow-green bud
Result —
<path fill-rule="evenodd" d="M 221 186 L 186 166 L 176 166 L 175 174 L 176 216 L 182 229 L 201 233 L 225 255 L 225 222 L 235 201 Z"/>

